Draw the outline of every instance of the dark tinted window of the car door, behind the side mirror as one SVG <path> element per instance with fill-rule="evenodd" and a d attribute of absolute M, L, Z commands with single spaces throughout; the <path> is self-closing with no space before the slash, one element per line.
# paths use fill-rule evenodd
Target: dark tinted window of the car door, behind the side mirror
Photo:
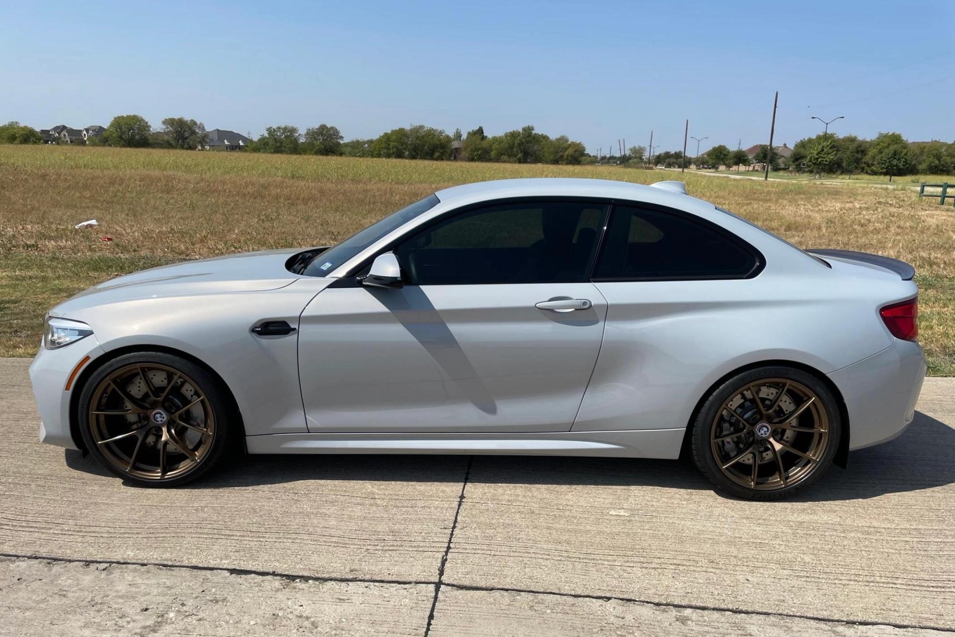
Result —
<path fill-rule="evenodd" d="M 394 253 L 417 286 L 583 282 L 605 211 L 603 203 L 503 203 L 436 223 Z"/>

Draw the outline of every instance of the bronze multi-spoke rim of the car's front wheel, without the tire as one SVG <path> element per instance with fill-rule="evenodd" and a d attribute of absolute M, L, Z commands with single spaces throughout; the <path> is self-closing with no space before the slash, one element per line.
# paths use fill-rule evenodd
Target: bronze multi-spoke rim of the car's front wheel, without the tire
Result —
<path fill-rule="evenodd" d="M 159 363 L 136 362 L 109 372 L 88 405 L 88 431 L 98 451 L 123 475 L 140 480 L 193 472 L 217 435 L 205 389 Z"/>

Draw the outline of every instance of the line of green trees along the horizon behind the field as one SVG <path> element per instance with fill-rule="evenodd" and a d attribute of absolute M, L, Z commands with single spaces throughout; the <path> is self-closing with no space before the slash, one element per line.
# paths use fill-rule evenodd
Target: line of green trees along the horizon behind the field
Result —
<path fill-rule="evenodd" d="M 166 117 L 159 129 L 153 129 L 144 117 L 114 117 L 102 136 L 86 140 L 90 145 L 132 148 L 197 149 L 206 143 L 201 121 L 186 117 Z M 16 121 L 0 126 L 0 143 L 41 143 L 43 137 L 30 126 Z M 678 167 L 684 165 L 681 151 L 665 151 L 647 157 L 644 146 L 632 146 L 620 157 L 598 158 L 586 152 L 584 144 L 566 136 L 551 138 L 534 126 L 523 126 L 497 136 L 487 136 L 478 126 L 462 135 L 460 129 L 449 135 L 431 126 L 417 124 L 395 128 L 377 138 L 345 141 L 335 126 L 320 124 L 301 132 L 291 125 L 268 126 L 265 134 L 253 139 L 248 151 L 291 155 L 341 155 L 393 159 L 464 159 L 467 161 L 510 161 L 517 163 L 596 163 L 609 160 L 626 166 L 647 163 Z M 892 177 L 917 173 L 942 175 L 955 173 L 955 142 L 926 141 L 909 143 L 899 133 L 880 133 L 875 139 L 854 135 L 838 137 L 820 133 L 803 138 L 793 146 L 789 158 L 760 146 L 754 157 L 744 150 L 731 150 L 724 144 L 712 146 L 699 157 L 686 158 L 686 164 L 703 168 L 748 166 L 770 160 L 774 170 L 808 170 L 823 174 L 869 173 Z"/>

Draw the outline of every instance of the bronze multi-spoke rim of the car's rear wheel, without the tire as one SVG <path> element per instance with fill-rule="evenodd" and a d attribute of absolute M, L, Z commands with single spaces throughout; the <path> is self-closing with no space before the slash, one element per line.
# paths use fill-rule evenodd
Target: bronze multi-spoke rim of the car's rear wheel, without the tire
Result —
<path fill-rule="evenodd" d="M 757 491 L 786 489 L 810 478 L 831 438 L 823 401 L 787 378 L 756 380 L 733 393 L 710 430 L 719 470 L 739 486 Z"/>

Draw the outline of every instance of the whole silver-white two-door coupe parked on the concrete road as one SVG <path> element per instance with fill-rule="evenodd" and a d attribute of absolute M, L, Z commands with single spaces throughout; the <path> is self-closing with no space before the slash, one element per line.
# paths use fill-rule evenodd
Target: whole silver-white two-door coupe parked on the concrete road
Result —
<path fill-rule="evenodd" d="M 41 440 L 145 485 L 249 454 L 676 458 L 775 499 L 901 435 L 911 266 L 803 251 L 684 184 L 440 190 L 329 248 L 121 276 L 50 310 Z"/>

